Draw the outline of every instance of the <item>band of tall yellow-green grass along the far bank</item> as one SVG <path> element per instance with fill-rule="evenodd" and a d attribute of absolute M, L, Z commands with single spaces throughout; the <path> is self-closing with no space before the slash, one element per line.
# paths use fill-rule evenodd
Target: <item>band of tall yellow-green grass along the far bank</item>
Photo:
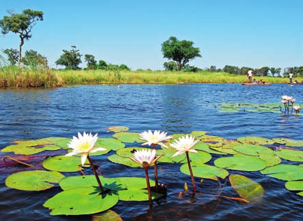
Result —
<path fill-rule="evenodd" d="M 289 83 L 287 77 L 253 76 L 266 83 Z M 295 78 L 302 82 L 303 78 Z M 293 79 L 293 81 L 295 80 Z M 0 68 L 0 88 L 54 88 L 89 84 L 180 84 L 248 83 L 246 75 L 201 71 L 198 73 L 167 70 L 55 70 L 49 68 Z"/>

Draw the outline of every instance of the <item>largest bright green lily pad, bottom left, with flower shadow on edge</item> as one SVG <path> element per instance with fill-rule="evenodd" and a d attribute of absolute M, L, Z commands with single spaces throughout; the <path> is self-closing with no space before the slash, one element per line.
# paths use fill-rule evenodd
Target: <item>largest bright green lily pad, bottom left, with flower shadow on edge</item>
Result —
<path fill-rule="evenodd" d="M 51 215 L 83 215 L 105 211 L 118 203 L 112 192 L 99 194 L 95 187 L 64 190 L 44 203 Z"/>

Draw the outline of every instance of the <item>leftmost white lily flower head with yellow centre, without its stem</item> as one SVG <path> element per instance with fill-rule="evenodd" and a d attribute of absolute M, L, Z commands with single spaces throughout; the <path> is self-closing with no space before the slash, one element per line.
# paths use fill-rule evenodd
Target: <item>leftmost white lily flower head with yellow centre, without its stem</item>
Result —
<path fill-rule="evenodd" d="M 73 156 L 81 154 L 81 164 L 85 164 L 85 160 L 88 157 L 88 153 L 95 153 L 96 151 L 106 151 L 106 148 L 94 148 L 94 144 L 98 140 L 98 133 L 92 136 L 92 133 L 81 133 L 78 132 L 78 138 L 73 136 L 73 139 L 68 144 L 69 148 L 72 148 L 73 151 L 66 154 L 66 156 Z"/>

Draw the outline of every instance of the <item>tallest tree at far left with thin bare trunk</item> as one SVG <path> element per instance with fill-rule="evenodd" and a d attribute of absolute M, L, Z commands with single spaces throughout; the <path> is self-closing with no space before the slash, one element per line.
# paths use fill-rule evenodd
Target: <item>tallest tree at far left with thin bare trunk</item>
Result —
<path fill-rule="evenodd" d="M 36 21 L 43 21 L 43 12 L 30 9 L 23 10 L 21 14 L 12 13 L 10 16 L 4 16 L 3 19 L 0 20 L 2 34 L 8 34 L 12 31 L 19 35 L 19 66 L 21 64 L 21 51 L 24 40 L 29 40 L 29 38 L 31 38 L 31 29 L 36 25 Z"/>

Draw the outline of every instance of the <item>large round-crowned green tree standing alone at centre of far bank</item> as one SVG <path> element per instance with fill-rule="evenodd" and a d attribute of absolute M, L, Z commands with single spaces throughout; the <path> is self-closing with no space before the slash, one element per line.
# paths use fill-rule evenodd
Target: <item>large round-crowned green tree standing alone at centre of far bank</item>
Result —
<path fill-rule="evenodd" d="M 200 49 L 194 48 L 194 42 L 189 40 L 179 41 L 176 37 L 170 37 L 163 42 L 161 51 L 163 57 L 168 60 L 173 60 L 178 66 L 178 70 L 181 70 L 185 64 L 196 57 L 202 57 L 200 55 Z"/>

